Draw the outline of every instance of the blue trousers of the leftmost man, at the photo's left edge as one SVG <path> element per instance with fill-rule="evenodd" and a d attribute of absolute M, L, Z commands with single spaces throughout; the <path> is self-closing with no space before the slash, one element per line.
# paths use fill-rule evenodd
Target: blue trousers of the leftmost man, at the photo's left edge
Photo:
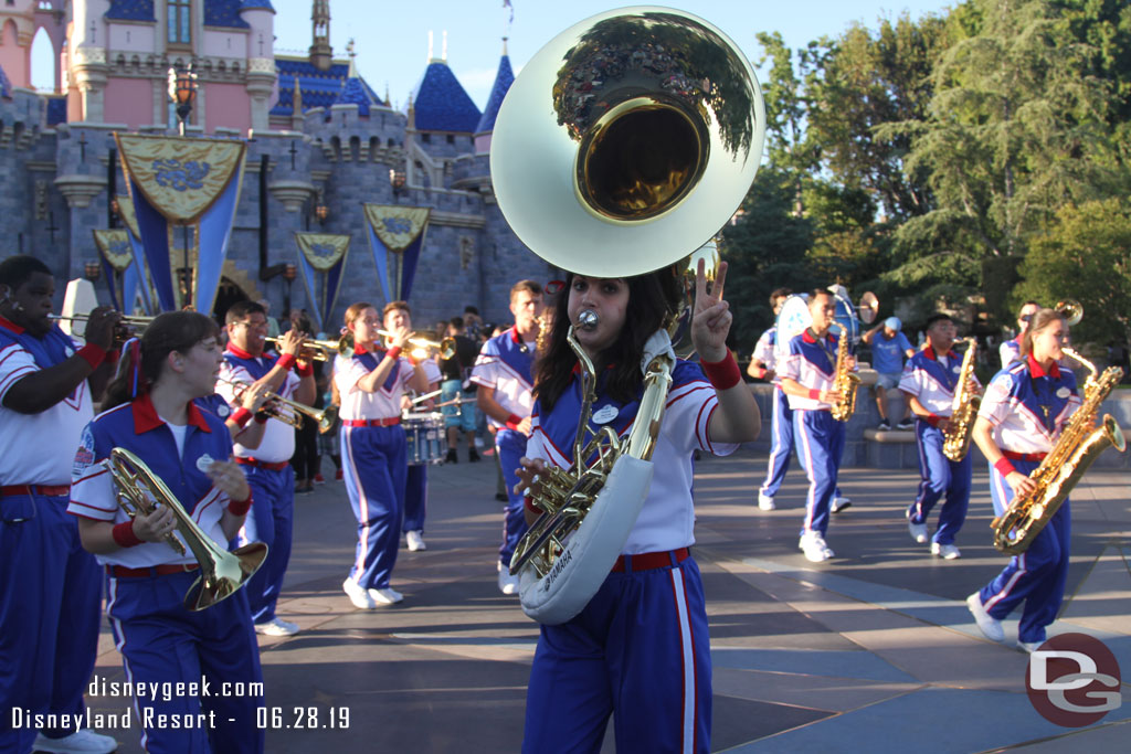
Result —
<path fill-rule="evenodd" d="M 102 575 L 83 549 L 67 495 L 0 497 L 0 751 L 31 752 L 14 708 L 83 714 L 94 670 Z M 74 729 L 44 730 L 62 737 Z"/>

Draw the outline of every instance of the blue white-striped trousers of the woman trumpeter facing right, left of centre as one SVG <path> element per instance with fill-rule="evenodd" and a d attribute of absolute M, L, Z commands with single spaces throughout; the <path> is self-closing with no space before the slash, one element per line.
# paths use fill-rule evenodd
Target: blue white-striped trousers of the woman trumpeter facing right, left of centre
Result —
<path fill-rule="evenodd" d="M 363 589 L 387 589 L 397 564 L 405 515 L 405 430 L 342 427 L 342 467 L 357 519 L 357 549 L 349 578 Z"/>

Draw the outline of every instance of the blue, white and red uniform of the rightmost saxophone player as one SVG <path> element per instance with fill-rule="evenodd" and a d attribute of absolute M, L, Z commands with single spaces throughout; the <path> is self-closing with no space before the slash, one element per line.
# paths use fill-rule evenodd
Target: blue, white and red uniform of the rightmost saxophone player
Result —
<path fill-rule="evenodd" d="M 993 440 L 1008 459 L 990 470 L 996 515 L 1009 508 L 1015 496 L 1005 482 L 1008 465 L 1021 474 L 1036 469 L 1080 404 L 1076 374 L 1055 363 L 1046 374 L 1031 355 L 994 375 L 983 396 L 978 418 L 993 426 Z M 1005 474 L 999 467 L 1004 467 Z M 1043 643 L 1045 626 L 1056 618 L 1064 597 L 1070 534 L 1071 514 L 1065 499 L 1029 548 L 1015 555 L 998 578 L 969 600 L 979 599 L 985 613 L 996 621 L 1024 601 L 1019 640 L 1025 644 Z"/>

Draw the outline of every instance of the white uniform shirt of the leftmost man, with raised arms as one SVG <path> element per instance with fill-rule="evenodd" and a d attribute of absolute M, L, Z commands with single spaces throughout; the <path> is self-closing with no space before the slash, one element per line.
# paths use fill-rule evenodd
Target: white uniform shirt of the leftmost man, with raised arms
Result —
<path fill-rule="evenodd" d="M 68 356 L 75 348 L 68 350 Z M 38 414 L 20 414 L 2 401 L 11 387 L 40 371 L 32 354 L 12 343 L 0 349 L 0 484 L 67 485 L 83 427 L 94 418 L 90 390 L 74 391 Z"/>

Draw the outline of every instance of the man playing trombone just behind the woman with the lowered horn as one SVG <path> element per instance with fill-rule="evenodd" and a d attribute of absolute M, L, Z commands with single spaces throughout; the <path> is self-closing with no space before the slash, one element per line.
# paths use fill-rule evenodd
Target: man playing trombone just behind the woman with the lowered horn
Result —
<path fill-rule="evenodd" d="M 267 315 L 261 305 L 253 301 L 236 302 L 224 319 L 228 341 L 216 392 L 233 408 L 239 400 L 235 397 L 238 388 L 232 382 L 265 385 L 283 398 L 308 406 L 314 402 L 314 370 L 297 359 L 301 332 L 291 329 L 283 333 L 279 343 L 283 355 L 276 357 L 264 353 Z M 241 540 L 262 541 L 268 547 L 267 560 L 247 586 L 256 631 L 268 636 L 290 636 L 299 631 L 296 624 L 275 615 L 283 577 L 291 561 L 294 528 L 292 456 L 294 427 L 276 417 L 267 419 L 257 448 L 244 445 L 239 439 L 235 443 L 235 462 L 243 467 L 256 499 Z"/>

